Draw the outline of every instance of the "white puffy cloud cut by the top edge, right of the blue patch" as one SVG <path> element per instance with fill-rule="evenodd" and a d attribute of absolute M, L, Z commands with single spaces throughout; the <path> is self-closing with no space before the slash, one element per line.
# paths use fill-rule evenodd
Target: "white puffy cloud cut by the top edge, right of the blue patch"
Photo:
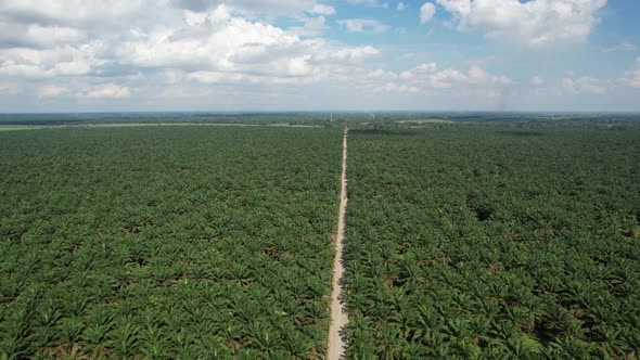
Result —
<path fill-rule="evenodd" d="M 585 42 L 606 0 L 436 0 L 452 14 L 458 29 L 532 48 Z"/>

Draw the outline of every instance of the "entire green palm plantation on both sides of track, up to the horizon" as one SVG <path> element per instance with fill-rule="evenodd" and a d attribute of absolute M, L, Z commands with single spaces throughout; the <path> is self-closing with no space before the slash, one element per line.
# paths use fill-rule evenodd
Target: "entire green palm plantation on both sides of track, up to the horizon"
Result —
<path fill-rule="evenodd" d="M 0 116 L 0 359 L 325 358 L 343 121 L 349 359 L 638 359 L 632 116 Z"/>

